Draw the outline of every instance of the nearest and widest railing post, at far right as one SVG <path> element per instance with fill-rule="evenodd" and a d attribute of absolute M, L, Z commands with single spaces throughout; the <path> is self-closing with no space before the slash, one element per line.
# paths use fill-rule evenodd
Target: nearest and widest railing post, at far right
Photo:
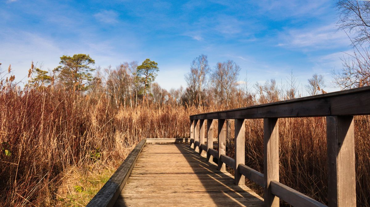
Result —
<path fill-rule="evenodd" d="M 329 207 L 355 207 L 353 116 L 327 116 L 326 133 Z"/>

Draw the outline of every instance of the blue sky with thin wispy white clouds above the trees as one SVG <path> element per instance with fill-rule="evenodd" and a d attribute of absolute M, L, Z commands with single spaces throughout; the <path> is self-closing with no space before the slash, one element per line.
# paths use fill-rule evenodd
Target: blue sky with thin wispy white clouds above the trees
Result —
<path fill-rule="evenodd" d="M 11 64 L 20 81 L 32 60 L 53 69 L 60 56 L 76 53 L 90 54 L 102 68 L 150 58 L 160 68 L 156 81 L 170 89 L 185 86 L 191 61 L 206 54 L 212 68 L 234 60 L 240 81 L 248 71 L 251 84 L 270 78 L 284 84 L 293 70 L 303 86 L 314 73 L 329 85 L 331 69 L 351 52 L 347 35 L 336 32 L 334 3 L 0 1 L 0 62 L 3 70 Z"/>

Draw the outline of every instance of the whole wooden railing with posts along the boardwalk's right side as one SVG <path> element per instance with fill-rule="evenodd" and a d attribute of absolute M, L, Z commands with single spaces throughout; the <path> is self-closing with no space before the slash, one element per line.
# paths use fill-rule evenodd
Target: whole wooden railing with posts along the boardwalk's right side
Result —
<path fill-rule="evenodd" d="M 266 207 L 279 206 L 279 198 L 292 206 L 325 205 L 279 183 L 279 118 L 326 116 L 329 207 L 356 206 L 354 115 L 370 114 L 370 86 L 297 98 L 246 108 L 190 116 L 190 146 L 235 170 L 235 184 L 245 177 L 264 188 Z M 245 119 L 263 119 L 263 174 L 245 165 Z M 235 119 L 235 159 L 226 156 L 226 119 Z M 212 122 L 218 120 L 218 151 L 213 149 Z M 206 129 L 205 129 L 206 123 Z M 207 145 L 205 145 L 207 130 Z"/>

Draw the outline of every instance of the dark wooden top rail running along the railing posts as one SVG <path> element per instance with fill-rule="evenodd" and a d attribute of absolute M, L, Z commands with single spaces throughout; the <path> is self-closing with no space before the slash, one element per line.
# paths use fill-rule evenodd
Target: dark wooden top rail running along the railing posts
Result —
<path fill-rule="evenodd" d="M 196 119 L 256 119 L 370 114 L 370 86 L 226 111 L 200 113 Z"/>

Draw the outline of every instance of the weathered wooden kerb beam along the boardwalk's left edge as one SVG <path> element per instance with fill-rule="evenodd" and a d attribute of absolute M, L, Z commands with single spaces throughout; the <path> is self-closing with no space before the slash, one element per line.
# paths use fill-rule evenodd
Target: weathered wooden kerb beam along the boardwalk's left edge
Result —
<path fill-rule="evenodd" d="M 135 166 L 140 152 L 144 148 L 146 140 L 141 140 L 131 153 L 126 157 L 124 162 L 113 173 L 107 183 L 98 191 L 98 193 L 87 204 L 87 207 L 111 207 L 114 206 L 115 201 L 126 181 Z"/>

